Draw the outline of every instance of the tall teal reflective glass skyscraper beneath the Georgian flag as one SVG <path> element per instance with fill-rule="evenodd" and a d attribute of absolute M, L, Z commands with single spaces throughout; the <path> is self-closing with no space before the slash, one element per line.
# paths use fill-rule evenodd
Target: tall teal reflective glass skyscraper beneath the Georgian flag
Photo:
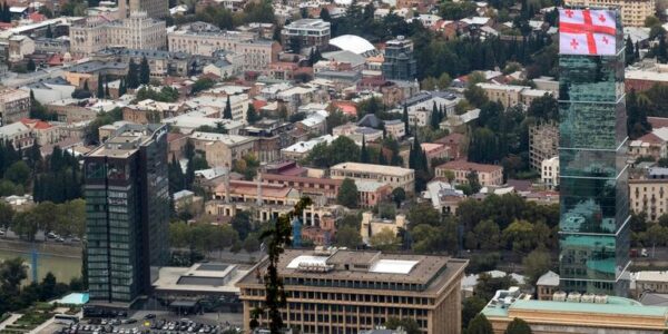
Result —
<path fill-rule="evenodd" d="M 559 56 L 559 261 L 563 291 L 626 296 L 629 205 L 619 12 L 616 21 L 616 55 Z"/>

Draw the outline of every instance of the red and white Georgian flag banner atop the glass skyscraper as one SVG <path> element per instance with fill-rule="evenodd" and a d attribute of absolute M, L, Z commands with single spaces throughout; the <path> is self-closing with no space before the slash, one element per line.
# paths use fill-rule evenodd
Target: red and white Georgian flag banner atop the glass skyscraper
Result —
<path fill-rule="evenodd" d="M 615 18 L 612 10 L 559 9 L 559 53 L 616 55 Z"/>

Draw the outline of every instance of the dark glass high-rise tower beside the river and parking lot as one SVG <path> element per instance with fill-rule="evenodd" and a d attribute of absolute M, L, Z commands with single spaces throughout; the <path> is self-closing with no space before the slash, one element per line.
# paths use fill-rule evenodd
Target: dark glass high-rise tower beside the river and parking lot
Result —
<path fill-rule="evenodd" d="M 129 307 L 169 259 L 167 131 L 128 124 L 85 157 L 94 305 Z"/>

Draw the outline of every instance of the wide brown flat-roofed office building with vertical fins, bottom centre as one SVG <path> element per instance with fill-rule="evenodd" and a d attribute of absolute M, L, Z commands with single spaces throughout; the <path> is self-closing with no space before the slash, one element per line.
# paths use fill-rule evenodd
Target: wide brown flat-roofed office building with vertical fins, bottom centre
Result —
<path fill-rule="evenodd" d="M 263 258 L 237 286 L 244 326 L 265 301 Z M 283 321 L 299 333 L 358 333 L 391 317 L 413 318 L 422 333 L 461 331 L 460 284 L 466 261 L 346 249 L 286 249 L 277 264 L 287 295 Z M 267 317 L 259 318 L 261 327 Z"/>

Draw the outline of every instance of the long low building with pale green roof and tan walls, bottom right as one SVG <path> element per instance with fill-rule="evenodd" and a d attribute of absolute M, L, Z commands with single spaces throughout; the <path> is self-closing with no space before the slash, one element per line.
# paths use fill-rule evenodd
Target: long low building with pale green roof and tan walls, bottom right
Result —
<path fill-rule="evenodd" d="M 668 326 L 668 307 L 645 306 L 625 297 L 557 292 L 549 301 L 536 301 L 517 286 L 498 291 L 482 310 L 493 334 L 521 318 L 533 333 L 647 333 L 661 334 Z"/>

